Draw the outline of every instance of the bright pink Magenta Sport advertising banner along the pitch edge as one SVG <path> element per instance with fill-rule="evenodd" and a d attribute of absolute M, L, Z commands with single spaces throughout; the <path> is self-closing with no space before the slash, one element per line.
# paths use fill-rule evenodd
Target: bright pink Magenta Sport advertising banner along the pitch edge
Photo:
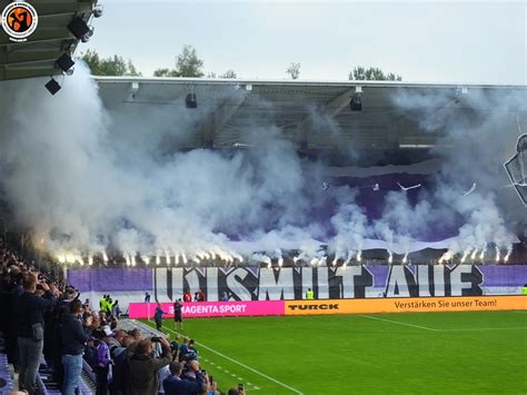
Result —
<path fill-rule="evenodd" d="M 130 303 L 130 318 L 152 318 L 156 303 Z M 163 317 L 173 317 L 173 304 L 162 303 Z M 282 316 L 282 300 L 269 302 L 195 302 L 182 304 L 185 318 L 203 317 L 249 317 L 249 316 Z"/>

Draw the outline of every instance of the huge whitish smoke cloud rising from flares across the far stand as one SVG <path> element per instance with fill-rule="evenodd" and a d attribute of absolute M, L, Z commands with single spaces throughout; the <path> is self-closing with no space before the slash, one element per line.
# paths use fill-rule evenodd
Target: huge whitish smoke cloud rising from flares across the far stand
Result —
<path fill-rule="evenodd" d="M 200 95 L 196 111 L 167 98 L 157 105 L 130 102 L 109 116 L 80 66 L 56 97 L 42 83 L 2 85 L 0 189 L 18 224 L 64 261 L 109 250 L 121 251 L 129 265 L 138 256 L 156 256 L 151 261 L 159 264 L 168 255 L 185 264 L 213 256 L 232 261 L 253 251 L 280 259 L 281 250 L 290 249 L 299 249 L 305 261 L 320 261 L 321 244 L 349 261 L 360 257 L 368 237 L 387 241 L 390 256 L 395 244 L 407 254 L 425 230 L 455 223 L 459 237 L 451 255 L 481 253 L 490 245 L 506 254 L 509 230 L 527 223 L 514 192 L 499 189 L 507 184 L 501 157 L 509 156 L 516 140 L 507 124 L 517 106 L 514 98 L 469 91 L 464 106 L 490 109 L 476 122 L 476 117 L 449 116 L 456 97 L 397 96 L 396 103 L 410 119 L 417 117 L 421 129 L 443 132 L 443 148 L 436 150 L 443 168 L 416 204 L 406 192 L 388 192 L 381 218 L 370 221 L 356 204 L 357 190 L 321 190 L 327 181 L 322 165 L 300 159 L 295 144 L 272 124 L 243 129 L 239 142 L 250 149 L 188 150 L 201 145 L 196 129 L 235 88 Z M 148 99 L 148 92 L 141 97 Z M 261 107 L 274 110 L 268 102 Z M 311 118 L 311 127 L 329 130 L 338 141 L 334 119 L 318 109 Z M 475 181 L 478 189 L 461 198 Z M 314 213 L 328 203 L 336 207 L 330 224 L 319 224 Z M 334 234 L 329 239 L 327 226 Z"/>

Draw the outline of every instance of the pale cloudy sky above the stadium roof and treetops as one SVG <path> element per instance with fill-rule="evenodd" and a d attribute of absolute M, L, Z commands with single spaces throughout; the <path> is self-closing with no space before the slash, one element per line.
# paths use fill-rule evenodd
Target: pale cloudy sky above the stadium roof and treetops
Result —
<path fill-rule="evenodd" d="M 205 72 L 245 79 L 346 80 L 355 66 L 404 81 L 527 83 L 527 2 L 100 0 L 80 45 L 131 59 L 143 76 L 193 46 Z"/>

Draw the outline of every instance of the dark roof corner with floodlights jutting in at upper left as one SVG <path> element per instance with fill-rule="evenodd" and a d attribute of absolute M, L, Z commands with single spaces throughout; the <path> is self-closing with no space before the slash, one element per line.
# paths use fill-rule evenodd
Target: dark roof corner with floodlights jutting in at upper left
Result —
<path fill-rule="evenodd" d="M 10 1 L 0 1 L 0 11 Z M 88 22 L 96 0 L 33 0 L 37 30 L 26 42 L 13 42 L 0 29 L 0 80 L 49 77 L 62 71 L 54 65 L 64 52 L 74 52 L 78 39 L 68 30 L 74 17 Z"/>

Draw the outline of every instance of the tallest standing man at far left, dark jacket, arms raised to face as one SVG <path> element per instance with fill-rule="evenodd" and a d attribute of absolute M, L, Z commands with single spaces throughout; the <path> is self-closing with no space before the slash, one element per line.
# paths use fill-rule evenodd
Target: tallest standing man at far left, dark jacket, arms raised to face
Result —
<path fill-rule="evenodd" d="M 29 273 L 23 279 L 23 294 L 18 299 L 18 350 L 19 350 L 19 386 L 29 394 L 34 394 L 37 372 L 43 349 L 44 319 L 47 308 L 54 306 L 53 285 L 41 283 L 44 297 L 34 295 L 37 275 Z M 51 288 L 50 288 L 51 287 Z"/>

